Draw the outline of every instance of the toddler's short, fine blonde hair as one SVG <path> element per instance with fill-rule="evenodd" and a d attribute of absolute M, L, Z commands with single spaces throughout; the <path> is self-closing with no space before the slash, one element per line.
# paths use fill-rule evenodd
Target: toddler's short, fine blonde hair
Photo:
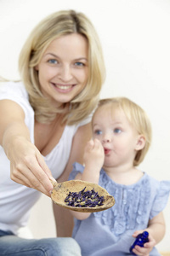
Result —
<path fill-rule="evenodd" d="M 139 166 L 139 164 L 144 160 L 145 154 L 148 152 L 151 143 L 151 125 L 150 119 L 147 114 L 144 112 L 144 109 L 139 107 L 136 103 L 127 99 L 126 97 L 114 97 L 107 98 L 99 101 L 98 108 L 102 108 L 106 104 L 111 104 L 111 108 L 119 108 L 127 116 L 127 119 L 131 125 L 139 132 L 140 135 L 143 135 L 145 138 L 144 148 L 139 150 L 133 160 L 133 166 Z M 93 120 L 92 120 L 93 123 Z"/>

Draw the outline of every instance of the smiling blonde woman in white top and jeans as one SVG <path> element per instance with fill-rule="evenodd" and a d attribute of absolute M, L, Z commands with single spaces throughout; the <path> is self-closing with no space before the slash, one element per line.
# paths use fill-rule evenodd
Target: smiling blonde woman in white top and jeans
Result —
<path fill-rule="evenodd" d="M 94 26 L 73 10 L 49 15 L 31 32 L 19 67 L 21 81 L 0 86 L 0 254 L 17 255 L 35 245 L 40 252 L 34 255 L 48 247 L 45 255 L 79 255 L 71 238 L 47 246 L 14 235 L 26 225 L 40 192 L 50 196 L 50 179 L 67 180 L 73 162 L 82 163 L 105 79 Z M 58 236 L 70 236 L 71 216 L 61 207 L 55 212 Z"/>

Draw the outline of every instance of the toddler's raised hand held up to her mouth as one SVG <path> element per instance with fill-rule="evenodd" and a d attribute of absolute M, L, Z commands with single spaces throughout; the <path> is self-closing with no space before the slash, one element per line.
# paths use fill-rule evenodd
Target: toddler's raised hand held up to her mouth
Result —
<path fill-rule="evenodd" d="M 84 164 L 87 168 L 98 168 L 104 164 L 104 148 L 98 139 L 90 140 L 84 150 Z"/>

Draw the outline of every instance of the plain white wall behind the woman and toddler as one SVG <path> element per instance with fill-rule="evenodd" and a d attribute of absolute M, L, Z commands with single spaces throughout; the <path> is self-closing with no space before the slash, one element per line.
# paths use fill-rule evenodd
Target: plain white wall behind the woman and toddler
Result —
<path fill-rule="evenodd" d="M 29 32 L 59 9 L 84 12 L 96 27 L 104 49 L 107 77 L 101 96 L 127 96 L 149 114 L 153 143 L 141 168 L 170 179 L 170 1 L 169 0 L 0 0 L 0 75 L 19 79 L 18 55 Z M 167 235 L 157 246 L 169 250 Z M 29 223 L 35 237 L 55 236 L 51 201 L 44 195 Z"/>

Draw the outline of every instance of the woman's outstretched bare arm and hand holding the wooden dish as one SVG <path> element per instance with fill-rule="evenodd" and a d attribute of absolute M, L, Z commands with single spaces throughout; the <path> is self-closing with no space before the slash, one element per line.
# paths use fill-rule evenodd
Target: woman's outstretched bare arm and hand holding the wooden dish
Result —
<path fill-rule="evenodd" d="M 53 189 L 39 150 L 31 143 L 25 113 L 16 102 L 0 101 L 0 144 L 10 160 L 11 179 L 46 195 Z"/>

